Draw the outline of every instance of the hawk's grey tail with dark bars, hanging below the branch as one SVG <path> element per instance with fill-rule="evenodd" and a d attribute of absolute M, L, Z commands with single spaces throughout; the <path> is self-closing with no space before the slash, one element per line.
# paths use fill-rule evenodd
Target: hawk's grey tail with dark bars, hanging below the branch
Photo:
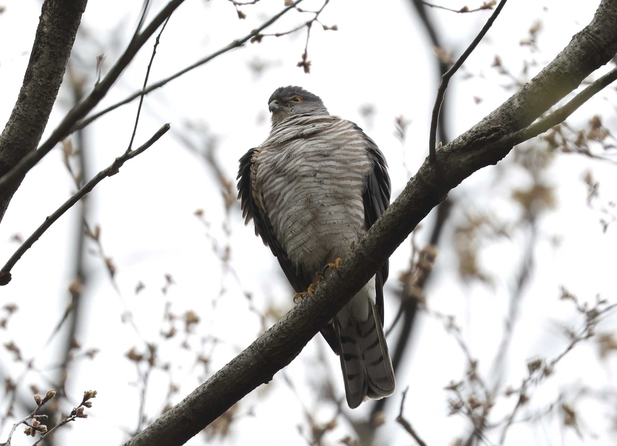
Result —
<path fill-rule="evenodd" d="M 369 301 L 370 302 L 370 301 Z M 341 368 L 347 404 L 354 409 L 363 401 L 388 397 L 394 392 L 394 369 L 387 350 L 386 336 L 373 302 L 368 320 L 341 326 L 334 319 L 341 347 Z"/>

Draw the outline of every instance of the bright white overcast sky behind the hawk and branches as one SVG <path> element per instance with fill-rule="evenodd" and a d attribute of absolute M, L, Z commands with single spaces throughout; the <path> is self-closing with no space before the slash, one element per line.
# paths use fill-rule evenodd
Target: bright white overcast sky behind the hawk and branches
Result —
<path fill-rule="evenodd" d="M 460 2 L 444 0 L 441 4 L 460 8 L 480 1 Z M 530 67 L 535 73 L 553 59 L 574 33 L 589 23 L 597 1 L 511 1 L 489 31 L 486 39 L 471 54 L 465 70 L 475 76 L 462 80 L 462 73 L 450 83 L 449 107 L 452 138 L 481 120 L 513 91 L 505 91 L 510 83 L 490 67 L 495 54 L 503 64 L 521 79 L 522 60 L 534 60 Z M 35 35 L 40 2 L 34 0 L 4 0 L 4 14 L 0 15 L 0 122 L 6 122 L 19 92 L 23 72 L 28 62 Z M 151 16 L 165 4 L 155 0 Z M 302 7 L 318 9 L 320 0 L 306 0 Z M 117 60 L 133 33 L 141 1 L 90 1 L 83 15 L 82 31 L 78 33 L 73 56 L 75 69 L 85 76 L 87 85 L 93 85 L 96 56 L 107 56 L 104 72 Z M 174 73 L 197 59 L 225 46 L 234 38 L 246 35 L 283 7 L 283 1 L 259 2 L 243 6 L 246 20 L 238 20 L 230 2 L 222 0 L 187 0 L 172 15 L 165 28 L 150 80 L 156 81 Z M 444 46 L 455 56 L 466 47 L 486 21 L 489 13 L 454 14 L 430 10 L 439 27 Z M 308 15 L 307 17 L 312 17 Z M 267 32 L 285 31 L 298 25 L 305 17 L 290 12 Z M 209 62 L 209 64 L 172 81 L 165 88 L 146 96 L 136 136 L 139 146 L 161 125 L 170 122 L 172 130 L 185 133 L 198 144 L 196 132 L 186 130 L 184 124 L 203 125 L 218 141 L 217 157 L 230 178 L 235 178 L 239 157 L 247 149 L 257 146 L 268 133 L 267 99 L 271 91 L 281 85 L 301 85 L 322 97 L 332 114 L 357 122 L 375 139 L 390 165 L 393 197 L 407 181 L 408 169 L 415 172 L 426 157 L 428 146 L 429 112 L 433 107 L 437 76 L 433 51 L 407 1 L 368 2 L 333 0 L 320 16 L 326 25 L 336 23 L 338 31 L 322 31 L 313 27 L 309 43 L 310 75 L 305 75 L 296 62 L 304 51 L 305 31 L 281 38 L 264 38 L 260 44 L 246 47 Z M 531 52 L 521 46 L 528 29 L 536 19 L 543 28 L 538 38 L 540 51 Z M 148 43 L 117 85 L 101 102 L 102 109 L 141 88 L 152 43 Z M 262 60 L 269 67 L 258 76 L 248 68 L 249 62 Z M 597 78 L 608 67 L 592 76 Z M 480 76 L 481 75 L 481 76 Z M 474 96 L 482 98 L 476 104 Z M 600 93 L 576 112 L 570 122 L 585 125 L 593 114 L 600 114 L 605 125 L 617 133 L 617 103 L 615 87 Z M 70 105 L 67 86 L 60 89 L 59 99 L 49 119 L 46 138 Z M 370 122 L 360 114 L 360 107 L 371 104 L 376 114 Z M 128 145 L 135 119 L 137 102 L 125 105 L 88 127 L 86 147 L 89 164 L 88 177 L 107 167 Z M 404 115 L 412 120 L 404 147 L 395 138 L 394 118 Z M 75 143 L 75 141 L 73 141 Z M 508 156 L 504 163 L 511 163 Z M 558 300 L 558 287 L 566 286 L 581 299 L 592 301 L 595 294 L 613 300 L 615 295 L 616 227 L 602 233 L 598 209 L 586 207 L 586 186 L 581 181 L 589 169 L 600 181 L 600 200 L 615 200 L 617 176 L 614 165 L 590 161 L 581 155 L 558 155 L 545 174 L 547 183 L 555 186 L 557 210 L 540 218 L 539 244 L 534 252 L 536 269 L 526 289 L 521 305 L 521 319 L 516 327 L 508 357 L 507 382 L 516 386 L 526 373 L 526 360 L 532 357 L 552 358 L 563 350 L 565 337 L 560 326 L 578 328 L 569 302 Z M 504 174 L 507 172 L 507 174 Z M 452 192 L 457 197 L 455 215 L 460 218 L 465 210 L 484 210 L 495 213 L 503 220 L 516 220 L 520 215 L 511 200 L 515 188 L 528 187 L 528 173 L 512 167 L 499 170 L 484 168 Z M 13 234 L 28 236 L 46 215 L 53 212 L 73 192 L 73 183 L 62 165 L 62 153 L 52 151 L 33 168 L 14 196 L 6 217 L 0 225 L 0 262 L 4 263 L 17 248 L 11 241 Z M 211 224 L 210 233 L 220 246 L 231 243 L 231 264 L 241 277 L 239 286 L 229 274 L 223 274 L 220 260 L 212 251 L 212 243 L 205 236 L 204 226 L 193 216 L 196 209 L 204 209 L 204 218 Z M 191 337 L 191 344 L 199 348 L 200 337 L 216 336 L 223 339 L 212 357 L 210 371 L 218 370 L 236 353 L 249 345 L 260 333 L 260 322 L 249 311 L 242 288 L 254 293 L 253 304 L 260 310 L 273 305 L 281 311 L 291 308 L 291 288 L 284 282 L 275 258 L 254 236 L 252 223 L 244 228 L 239 207 L 230 215 L 231 237 L 225 238 L 222 197 L 212 170 L 201 157 L 186 150 L 170 131 L 144 154 L 130 160 L 118 175 L 104 180 L 89 198 L 88 222 L 102 228 L 102 245 L 117 266 L 117 283 L 123 300 L 135 315 L 141 334 L 151 341 L 159 341 L 164 304 L 170 300 L 172 312 L 195 310 L 201 315 Z M 424 245 L 431 228 L 431 218 L 418 232 L 418 242 Z M 65 214 L 23 256 L 12 270 L 13 281 L 0 288 L 0 305 L 16 302 L 20 311 L 9 322 L 7 331 L 0 331 L 3 343 L 13 339 L 19 344 L 24 357 L 35 358 L 35 365 L 46 368 L 57 362 L 62 352 L 62 334 L 51 347 L 42 347 L 54 325 L 69 302 L 66 291 L 72 280 L 72 253 L 75 231 L 78 231 L 78 208 Z M 452 222 L 451 222 L 452 223 Z M 549 239 L 560 236 L 560 246 L 553 247 Z M 511 241 L 499 241 L 482 250 L 482 267 L 495 275 L 494 288 L 482 284 L 462 284 L 457 275 L 457 258 L 453 251 L 453 226 L 445 230 L 445 239 L 437 258 L 436 271 L 426 289 L 429 307 L 457 316 L 463 326 L 463 336 L 473 355 L 479 358 L 479 370 L 486 373 L 499 342 L 503 317 L 507 313 L 508 289 L 513 284 L 524 236 Z M 88 244 L 94 249 L 94 246 Z M 394 291 L 399 288 L 397 276 L 408 266 L 410 247 L 404 243 L 391 258 L 391 279 L 387 284 L 386 327 L 394 318 L 398 302 Z M 160 287 L 164 275 L 170 273 L 176 284 L 164 297 Z M 146 284 L 139 295 L 133 290 L 138 281 Z M 225 294 L 215 299 L 221 287 Z M 84 318 L 78 340 L 84 349 L 97 347 L 101 353 L 94 361 L 80 361 L 70 374 L 67 391 L 75 403 L 83 390 L 96 389 L 91 414 L 86 420 L 73 423 L 72 429 L 60 429 L 57 440 L 65 445 L 80 444 L 88 437 L 91 444 L 118 444 L 126 440 L 125 430 L 135 429 L 138 413 L 138 389 L 135 367 L 122 355 L 134 345 L 143 350 L 143 342 L 129 324 L 120 321 L 123 304 L 107 278 L 99 258 L 88 257 L 88 283 L 83 297 Z M 213 307 L 213 300 L 216 305 Z M 613 320 L 614 326 L 615 320 Z M 271 318 L 268 326 L 273 323 Z M 610 323 L 605 325 L 605 329 Z M 178 324 L 178 328 L 181 325 Z M 392 334 L 395 339 L 397 333 Z M 413 342 L 404 364 L 397 375 L 397 392 L 387 406 L 386 424 L 379 429 L 376 444 L 405 445 L 413 440 L 398 426 L 397 415 L 400 395 L 409 386 L 405 415 L 429 445 L 448 444 L 458 435 L 468 432 L 468 423 L 460 416 L 447 416 L 447 392 L 443 389 L 451 379 L 462 379 L 465 358 L 441 323 L 421 314 L 413 334 Z M 180 384 L 174 402 L 191 392 L 199 382 L 202 368 L 192 370 L 194 357 L 181 350 L 181 336 L 160 346 L 162 362 L 172 361 L 173 381 Z M 391 341 L 392 342 L 392 341 Z M 316 407 L 315 390 L 308 384 L 320 381 L 323 371 L 315 368 L 315 357 L 326 344 L 315 337 L 307 348 L 292 362 L 286 373 L 292 378 L 300 399 L 312 410 Z M 327 346 L 326 346 L 327 347 Z M 391 350 L 394 347 L 391 346 Z M 338 359 L 328 350 L 329 370 L 339 395 L 344 389 Z M 12 363 L 8 352 L 0 351 L 2 370 L 17 376 L 23 370 Z M 529 408 L 542 408 L 573 384 L 589 384 L 595 388 L 615 388 L 615 357 L 598 363 L 597 347 L 593 341 L 567 355 L 558 366 L 555 377 L 542 386 Z M 48 371 L 46 376 L 54 378 Z M 490 378 L 487 378 L 490 381 Z M 30 373 L 20 382 L 23 387 L 37 384 L 46 388 L 39 374 Z M 167 376 L 152 374 L 147 394 L 146 413 L 156 416 L 163 405 L 167 391 Z M 28 390 L 24 390 L 24 394 Z M 508 404 L 495 408 L 507 413 Z M 70 410 L 68 403 L 66 407 Z M 238 413 L 247 413 L 254 407 L 255 416 L 246 417 L 232 425 L 233 431 L 225 440 L 214 444 L 248 444 L 256 438 L 267 444 L 303 444 L 297 433 L 297 424 L 305 426 L 302 405 L 289 390 L 281 373 L 273 382 L 252 392 L 240 403 Z M 368 405 L 355 410 L 352 417 L 368 413 Z M 582 410 L 584 409 L 584 410 Z M 0 414 L 5 404 L 0 400 Z M 320 421 L 328 421 L 333 407 L 323 405 L 318 411 Z M 523 412 L 524 414 L 525 412 Z M 590 444 L 609 444 L 615 441 L 607 432 L 610 417 L 607 407 L 584 401 L 583 431 Z M 515 426 L 508 436 L 508 444 L 581 444 L 573 430 L 560 428 L 558 417 L 537 426 Z M 306 426 L 305 426 L 306 428 Z M 0 432 L 0 441 L 6 437 L 9 426 Z M 30 444 L 18 431 L 14 445 Z M 96 438 L 91 432 L 97 432 Z M 589 433 L 596 434 L 592 441 Z M 328 444 L 352 434 L 352 429 L 341 419 L 341 424 L 326 437 Z M 493 439 L 497 441 L 497 439 Z M 196 437 L 189 444 L 201 444 Z"/>

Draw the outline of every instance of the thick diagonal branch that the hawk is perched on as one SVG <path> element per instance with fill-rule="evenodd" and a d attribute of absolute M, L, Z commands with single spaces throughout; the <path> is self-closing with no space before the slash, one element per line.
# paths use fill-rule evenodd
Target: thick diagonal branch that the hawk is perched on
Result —
<path fill-rule="evenodd" d="M 337 274 L 317 287 L 272 328 L 172 410 L 125 446 L 180 445 L 244 395 L 288 365 L 304 345 L 360 291 L 428 212 L 474 171 L 501 160 L 511 150 L 501 138 L 525 128 L 617 52 L 617 0 L 602 0 L 592 22 L 532 81 L 489 116 L 428 160 L 386 213 L 341 263 Z"/>

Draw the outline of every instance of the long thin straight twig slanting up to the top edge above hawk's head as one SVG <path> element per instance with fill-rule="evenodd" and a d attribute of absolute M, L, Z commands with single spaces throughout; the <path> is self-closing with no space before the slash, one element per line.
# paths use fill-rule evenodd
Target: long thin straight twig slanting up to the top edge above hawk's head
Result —
<path fill-rule="evenodd" d="M 107 113 L 111 112 L 112 110 L 117 109 L 118 107 L 120 107 L 122 105 L 128 104 L 129 102 L 133 101 L 133 99 L 135 99 L 136 97 L 142 96 L 144 94 L 148 94 L 148 93 L 150 93 L 151 91 L 153 91 L 153 90 L 155 90 L 157 88 L 161 88 L 162 86 L 164 86 L 168 82 L 174 80 L 175 78 L 178 78 L 181 75 L 183 75 L 184 73 L 193 70 L 193 68 L 197 68 L 197 67 L 199 67 L 201 65 L 204 65 L 206 62 L 210 62 L 210 60 L 214 59 L 215 57 L 220 56 L 221 54 L 224 54 L 224 53 L 230 51 L 231 49 L 238 48 L 238 47 L 242 46 L 244 43 L 249 41 L 252 37 L 254 37 L 255 35 L 259 34 L 260 31 L 265 30 L 265 28 L 269 27 L 272 23 L 276 22 L 276 20 L 280 19 L 280 17 L 283 14 L 285 14 L 286 12 L 288 12 L 288 10 L 294 9 L 294 7 L 296 7 L 296 5 L 299 4 L 301 1 L 302 0 L 297 0 L 296 2 L 294 2 L 294 4 L 286 7 L 283 10 L 281 10 L 281 12 L 279 12 L 276 15 L 274 15 L 270 20 L 268 20 L 267 22 L 263 23 L 262 26 L 260 26 L 256 30 L 251 31 L 251 33 L 247 34 L 246 36 L 242 37 L 241 39 L 234 40 L 232 43 L 228 44 L 227 46 L 219 49 L 218 51 L 213 52 L 212 54 L 210 54 L 209 56 L 204 57 L 203 59 L 197 60 L 197 62 L 195 62 L 192 65 L 189 65 L 186 68 L 183 68 L 179 72 L 177 72 L 177 73 L 175 73 L 175 74 L 173 74 L 171 76 L 168 76 L 167 78 L 164 78 L 164 79 L 162 79 L 162 80 L 160 80 L 158 82 L 155 82 L 154 84 L 152 84 L 151 86 L 149 86 L 148 88 L 146 88 L 144 90 L 136 91 L 135 93 L 133 93 L 130 96 L 128 96 L 125 99 L 123 99 L 122 101 L 117 102 L 114 105 L 110 105 L 106 109 L 101 110 L 100 112 L 95 113 L 94 115 L 91 115 L 88 118 L 81 119 L 80 121 L 75 123 L 70 128 L 70 130 L 67 131 L 67 134 L 65 136 L 68 136 L 69 134 L 73 133 L 73 131 L 77 131 L 77 130 L 80 130 L 81 128 L 84 128 L 86 125 L 89 125 L 90 123 L 92 123 L 97 118 L 100 118 L 102 115 L 107 114 Z"/>

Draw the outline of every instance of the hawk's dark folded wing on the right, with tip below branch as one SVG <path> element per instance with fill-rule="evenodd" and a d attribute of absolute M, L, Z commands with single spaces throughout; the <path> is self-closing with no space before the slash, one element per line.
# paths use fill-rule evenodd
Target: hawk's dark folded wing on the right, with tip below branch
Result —
<path fill-rule="evenodd" d="M 386 159 L 375 141 L 366 136 L 360 127 L 355 126 L 355 129 L 362 134 L 362 138 L 366 142 L 366 155 L 373 163 L 373 170 L 366 175 L 366 187 L 362 193 L 364 221 L 366 229 L 368 229 L 386 212 L 390 205 L 390 176 L 387 173 Z M 381 324 L 384 323 L 383 286 L 386 283 L 388 273 L 389 261 L 386 260 L 375 275 L 376 307 L 379 318 L 381 318 Z"/>

